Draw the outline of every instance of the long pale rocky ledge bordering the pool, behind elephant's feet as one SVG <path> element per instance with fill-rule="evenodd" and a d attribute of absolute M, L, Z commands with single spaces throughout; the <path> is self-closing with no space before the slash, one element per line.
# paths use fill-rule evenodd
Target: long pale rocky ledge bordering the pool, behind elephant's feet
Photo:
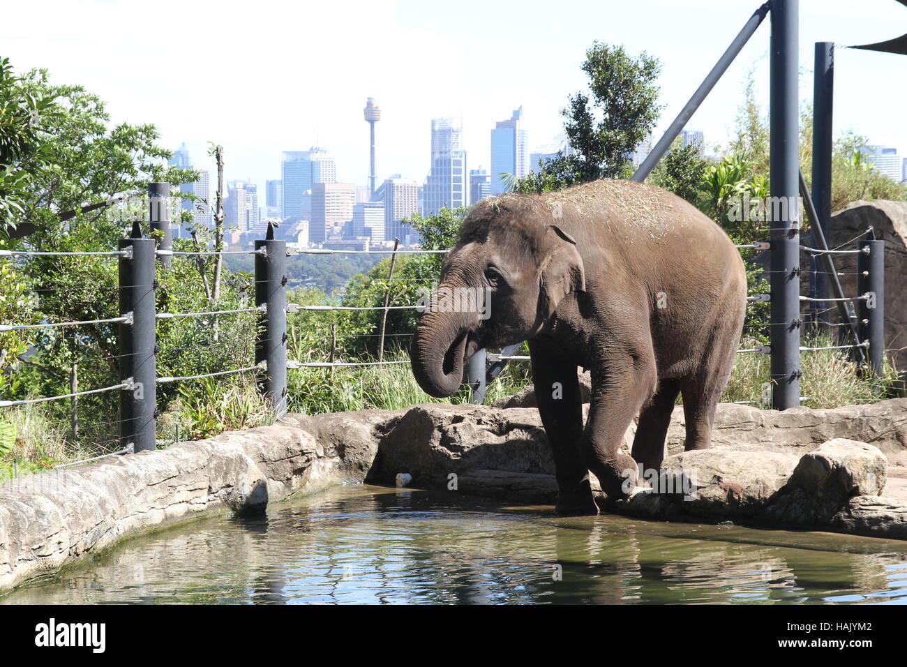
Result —
<path fill-rule="evenodd" d="M 907 398 L 784 413 L 722 405 L 716 446 L 700 452 L 682 451 L 682 412 L 674 417 L 664 479 L 611 511 L 907 539 Z M 514 502 L 552 504 L 557 494 L 534 407 L 288 415 L 0 484 L 0 590 L 202 512 L 260 512 L 327 485 L 394 484 L 398 473 L 413 486 Z"/>

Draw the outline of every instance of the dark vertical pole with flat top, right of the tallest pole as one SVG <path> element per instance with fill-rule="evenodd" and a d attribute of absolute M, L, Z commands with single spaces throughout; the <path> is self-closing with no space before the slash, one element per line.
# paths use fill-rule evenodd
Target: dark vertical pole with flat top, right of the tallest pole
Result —
<path fill-rule="evenodd" d="M 813 203 L 818 224 L 826 239 L 832 238 L 833 102 L 834 42 L 816 42 L 813 74 Z M 819 258 L 813 258 L 812 269 L 811 296 L 814 299 L 827 297 L 828 282 Z"/>

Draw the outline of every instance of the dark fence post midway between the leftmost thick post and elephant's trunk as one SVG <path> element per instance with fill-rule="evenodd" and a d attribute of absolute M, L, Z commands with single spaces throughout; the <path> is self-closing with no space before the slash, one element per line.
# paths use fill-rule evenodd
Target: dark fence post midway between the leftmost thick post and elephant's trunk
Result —
<path fill-rule="evenodd" d="M 261 383 L 276 417 L 287 412 L 287 241 L 274 240 L 268 225 L 265 240 L 255 241 L 255 305 L 267 310 L 258 316 L 255 361 L 268 368 Z"/>

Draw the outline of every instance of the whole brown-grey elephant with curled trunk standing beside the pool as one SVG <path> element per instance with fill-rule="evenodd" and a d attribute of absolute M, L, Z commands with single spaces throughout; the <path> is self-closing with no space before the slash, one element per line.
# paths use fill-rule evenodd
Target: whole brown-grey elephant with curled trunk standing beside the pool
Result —
<path fill-rule="evenodd" d="M 463 287 L 492 289 L 490 319 L 426 310 L 414 376 L 447 397 L 477 349 L 528 340 L 559 513 L 598 512 L 590 471 L 619 498 L 624 480 L 636 484 L 638 463 L 660 467 L 678 393 L 686 448 L 710 445 L 743 327 L 746 273 L 727 234 L 688 202 L 630 181 L 480 201 L 439 283 Z M 580 366 L 592 380 L 585 426 Z M 619 446 L 638 413 L 631 458 Z"/>

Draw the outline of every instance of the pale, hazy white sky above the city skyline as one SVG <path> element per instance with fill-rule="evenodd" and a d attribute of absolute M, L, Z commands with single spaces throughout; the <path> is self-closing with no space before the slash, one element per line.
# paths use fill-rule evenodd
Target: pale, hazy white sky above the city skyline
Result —
<path fill-rule="evenodd" d="M 154 123 L 161 143 L 187 142 L 211 168 L 226 150 L 229 179 L 280 177 L 280 152 L 314 143 L 334 152 L 341 181 L 366 184 L 373 96 L 378 178 L 420 183 L 431 119 L 462 119 L 470 168 L 489 166 L 489 131 L 522 104 L 531 147 L 561 130 L 559 112 L 585 86 L 594 40 L 647 51 L 662 64 L 665 127 L 759 3 L 719 0 L 372 0 L 198 2 L 29 0 L 6 5 L 0 54 L 17 71 L 47 67 L 108 103 L 114 122 Z M 907 32 L 893 0 L 801 0 L 800 91 L 812 97 L 813 44 L 866 44 Z M 727 142 L 746 72 L 768 103 L 769 20 L 688 128 Z M 907 57 L 840 49 L 835 133 L 853 129 L 907 152 Z M 262 201 L 262 203 L 264 203 Z"/>

